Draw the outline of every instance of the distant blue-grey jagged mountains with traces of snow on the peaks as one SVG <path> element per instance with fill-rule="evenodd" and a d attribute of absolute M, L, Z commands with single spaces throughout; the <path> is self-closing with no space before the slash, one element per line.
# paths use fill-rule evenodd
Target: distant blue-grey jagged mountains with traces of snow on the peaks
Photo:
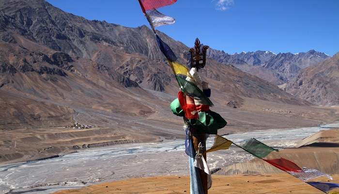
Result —
<path fill-rule="evenodd" d="M 215 49 L 210 49 L 208 56 L 222 64 L 234 65 L 277 85 L 291 80 L 301 69 L 316 65 L 330 57 L 315 50 L 295 54 L 290 52 L 275 54 L 261 50 L 228 54 Z"/>

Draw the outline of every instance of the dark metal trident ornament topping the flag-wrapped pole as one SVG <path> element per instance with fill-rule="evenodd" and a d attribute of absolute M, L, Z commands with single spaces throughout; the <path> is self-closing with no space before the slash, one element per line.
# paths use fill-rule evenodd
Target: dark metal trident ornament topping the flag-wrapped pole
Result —
<path fill-rule="evenodd" d="M 191 53 L 191 68 L 196 67 L 199 70 L 206 65 L 206 50 L 208 48 L 207 45 L 204 45 L 202 52 L 200 52 L 200 40 L 198 38 L 195 39 L 194 49 L 189 49 Z"/>

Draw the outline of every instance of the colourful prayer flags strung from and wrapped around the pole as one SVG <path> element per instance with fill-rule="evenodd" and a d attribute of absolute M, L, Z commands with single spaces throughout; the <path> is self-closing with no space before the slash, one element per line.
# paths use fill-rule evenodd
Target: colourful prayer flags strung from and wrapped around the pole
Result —
<path fill-rule="evenodd" d="M 172 71 L 175 75 L 176 80 L 180 86 L 180 91 L 178 93 L 178 101 L 185 112 L 185 118 L 189 120 L 185 120 L 186 124 L 189 124 L 191 127 L 195 129 L 199 126 L 202 126 L 206 133 L 216 134 L 216 130 L 224 127 L 227 122 L 217 113 L 214 113 L 209 110 L 209 106 L 213 106 L 211 100 L 206 97 L 206 95 L 201 91 L 202 87 L 199 81 L 199 76 L 195 77 L 194 72 L 197 71 L 195 67 L 189 71 L 185 65 L 181 65 L 177 63 L 177 57 L 175 56 L 170 46 L 166 44 L 161 38 L 156 34 L 155 27 L 173 24 L 175 19 L 166 16 L 159 11 L 157 8 L 171 5 L 175 3 L 177 0 L 139 0 L 139 4 L 141 6 L 142 12 L 145 14 L 148 22 L 154 34 L 156 36 L 156 41 L 159 49 L 167 58 Z M 193 76 L 192 76 L 193 75 Z M 197 74 L 198 75 L 198 74 Z M 171 103 L 171 110 L 174 114 L 182 115 L 183 113 L 180 111 L 178 101 L 173 101 Z M 183 116 L 183 115 L 182 115 Z M 201 118 L 200 118 L 201 117 Z M 219 122 L 215 122 L 215 120 Z M 193 122 L 192 122 L 193 121 Z M 195 122 L 195 123 L 194 123 Z M 208 128 L 211 129 L 208 129 Z M 212 152 L 216 150 L 229 149 L 232 142 L 223 138 L 221 136 L 216 135 L 213 146 L 208 149 L 206 152 Z M 234 143 L 233 143 L 234 144 Z M 236 144 L 234 144 L 236 145 Z M 317 178 L 321 176 L 325 176 L 327 178 L 332 179 L 329 175 L 326 175 L 316 169 L 310 168 L 300 168 L 298 165 L 293 163 L 292 161 L 286 160 L 284 158 L 276 158 L 276 159 L 268 159 L 266 158 L 272 152 L 278 151 L 270 146 L 263 144 L 262 142 L 252 138 L 245 142 L 241 147 L 248 153 L 256 156 L 265 162 L 270 163 L 271 165 L 277 167 L 280 170 L 283 170 L 296 178 L 299 178 L 303 181 L 307 181 L 312 178 Z M 208 188 L 212 185 L 211 173 L 208 168 L 208 165 L 201 153 L 195 153 L 192 145 L 191 137 L 189 134 L 189 130 L 186 129 L 186 154 L 189 156 L 190 162 L 190 175 L 191 175 L 191 194 L 193 193 L 201 193 L 201 182 L 199 178 L 199 173 L 196 171 L 196 168 L 202 169 L 206 174 L 208 174 Z M 193 163 L 193 156 L 195 156 L 195 160 Z M 306 182 L 309 185 L 327 193 L 327 194 L 339 194 L 338 191 L 335 191 L 339 188 L 339 184 L 330 183 L 330 182 Z"/>

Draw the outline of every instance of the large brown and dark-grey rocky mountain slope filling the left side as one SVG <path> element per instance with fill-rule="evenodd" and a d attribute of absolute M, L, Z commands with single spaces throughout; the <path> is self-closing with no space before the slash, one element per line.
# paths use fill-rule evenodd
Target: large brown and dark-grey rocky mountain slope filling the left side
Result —
<path fill-rule="evenodd" d="M 1 90 L 76 109 L 152 113 L 151 89 L 175 95 L 177 83 L 146 26 L 90 21 L 44 0 L 0 0 Z M 186 63 L 189 49 L 158 32 Z M 209 60 L 202 75 L 217 103 L 252 97 L 304 104 L 255 76 Z M 168 103 L 168 102 L 167 102 Z"/>

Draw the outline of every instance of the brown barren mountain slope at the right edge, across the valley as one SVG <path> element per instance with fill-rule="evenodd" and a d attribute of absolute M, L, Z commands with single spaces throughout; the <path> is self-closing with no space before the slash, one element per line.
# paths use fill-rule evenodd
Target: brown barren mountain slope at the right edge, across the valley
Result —
<path fill-rule="evenodd" d="M 315 104 L 339 105 L 339 53 L 303 69 L 287 83 L 286 91 Z"/>

